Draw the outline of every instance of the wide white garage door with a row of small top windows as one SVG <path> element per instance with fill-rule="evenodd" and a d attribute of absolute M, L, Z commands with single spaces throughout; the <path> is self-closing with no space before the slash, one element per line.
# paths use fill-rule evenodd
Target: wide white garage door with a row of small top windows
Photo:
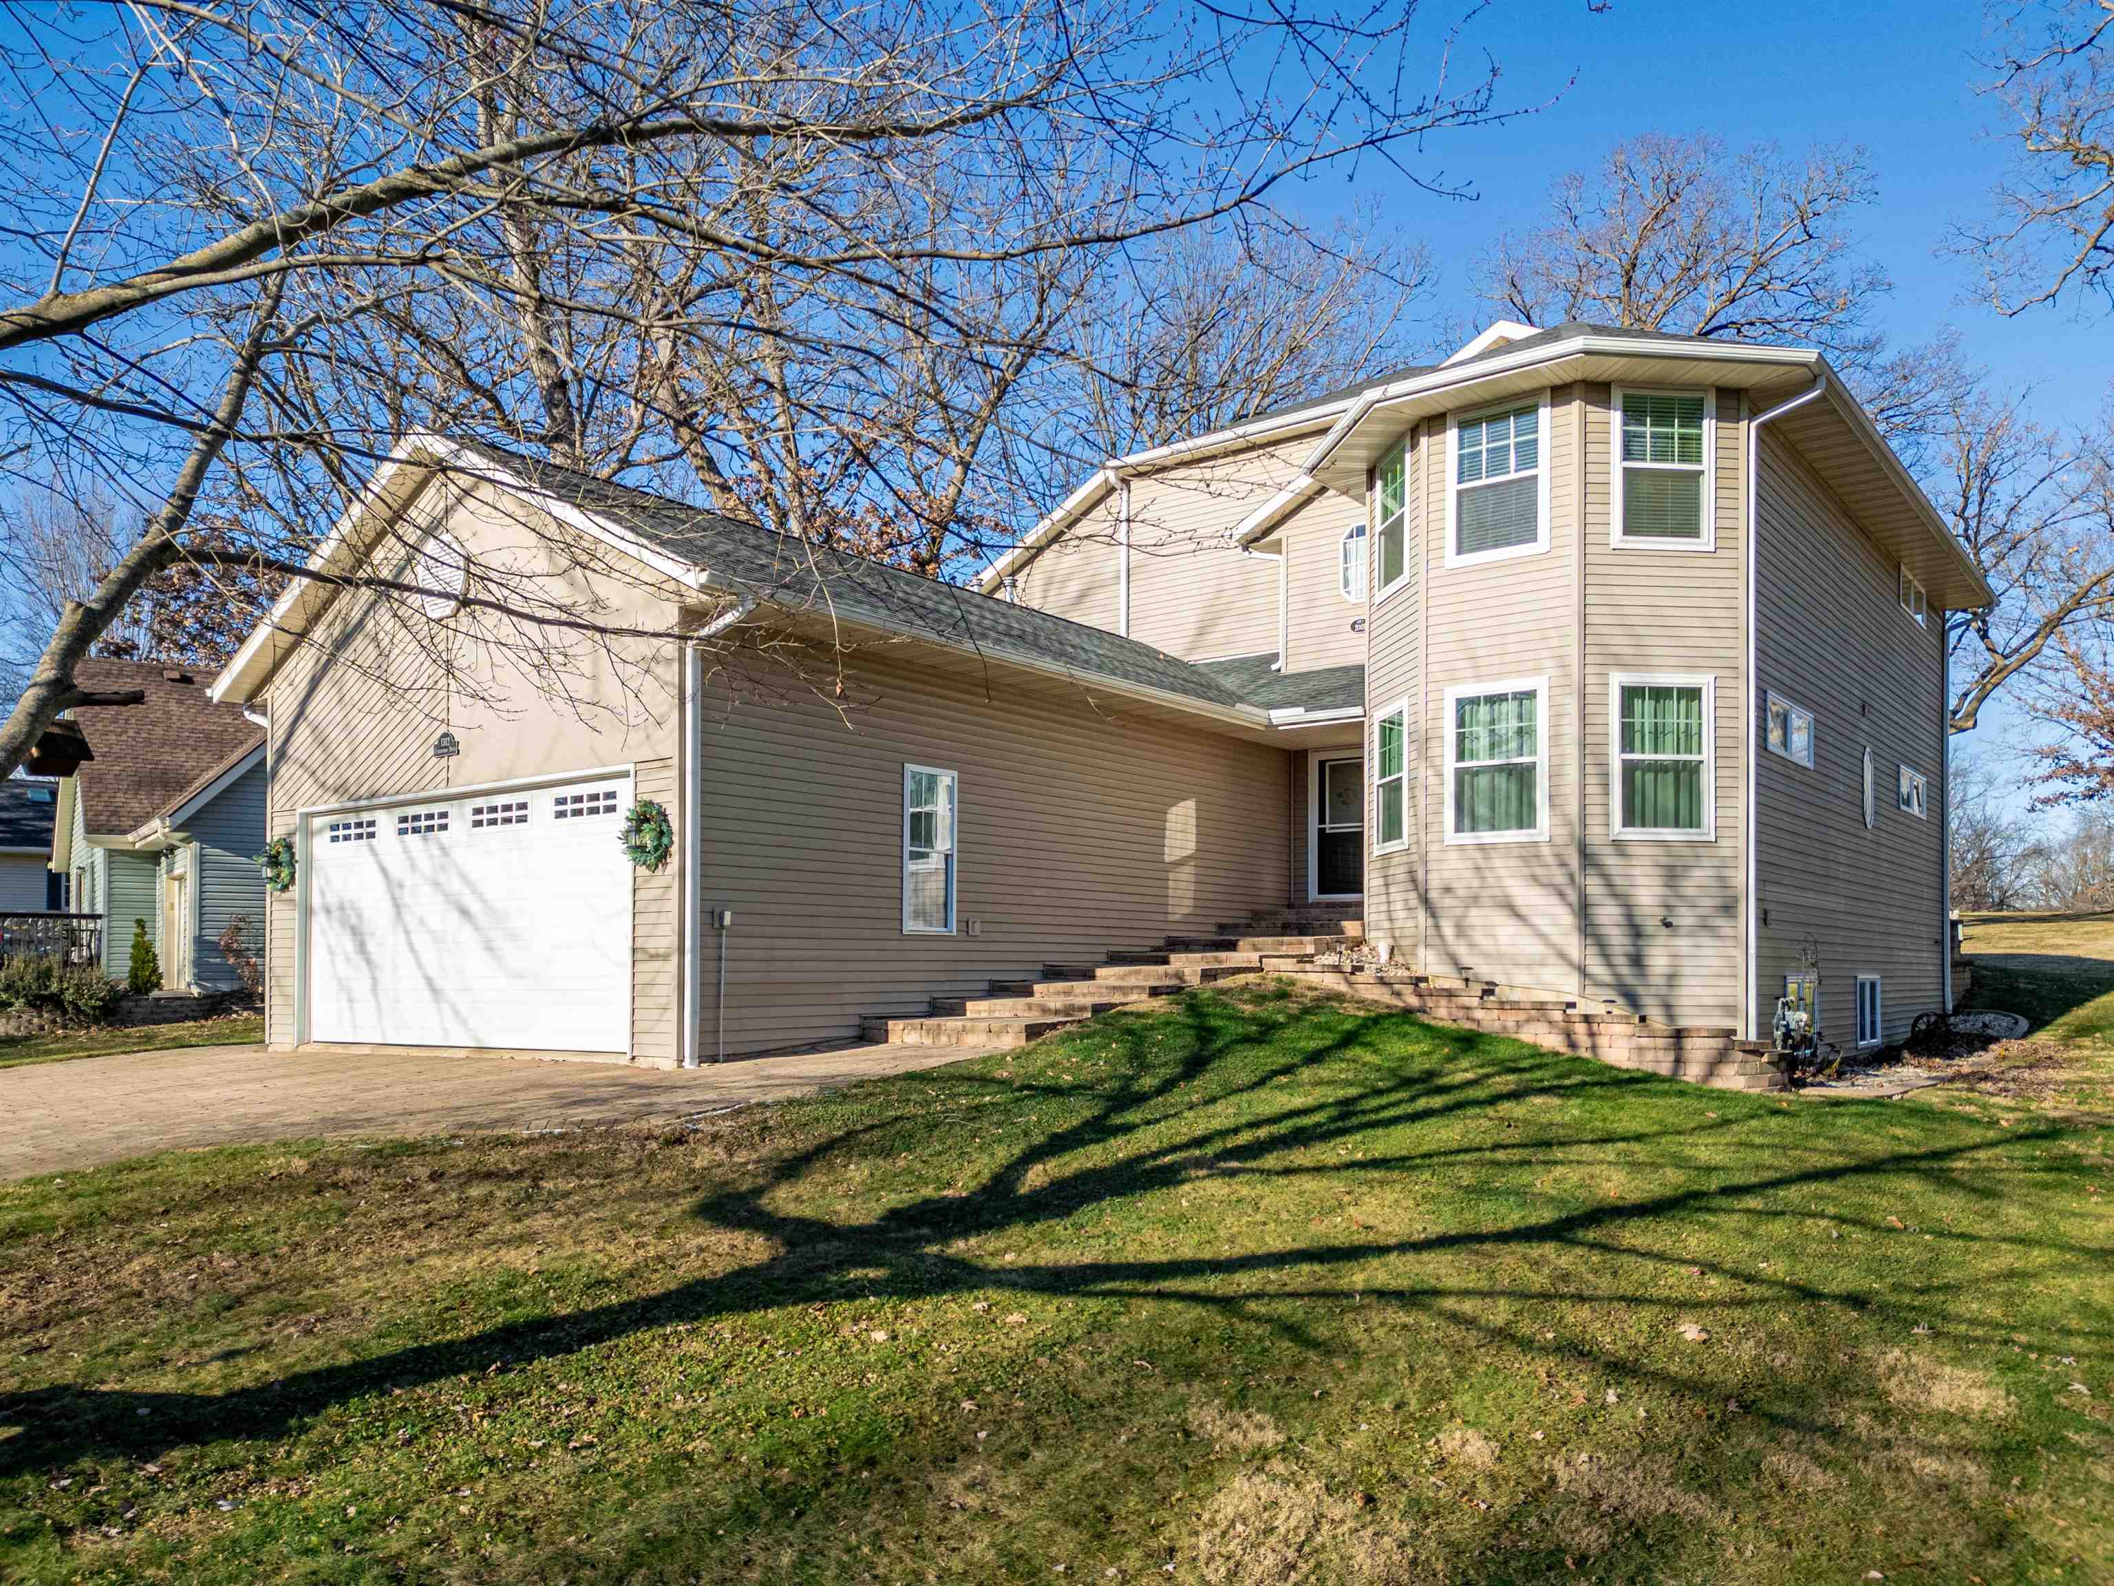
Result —
<path fill-rule="evenodd" d="M 311 816 L 309 1040 L 628 1051 L 630 785 Z"/>

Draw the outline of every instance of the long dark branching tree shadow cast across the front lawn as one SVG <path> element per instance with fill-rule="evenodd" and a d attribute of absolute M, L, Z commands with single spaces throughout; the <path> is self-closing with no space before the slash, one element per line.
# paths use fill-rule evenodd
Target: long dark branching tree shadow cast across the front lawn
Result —
<path fill-rule="evenodd" d="M 1886 1233 L 1884 1212 L 1869 1193 L 1898 1186 L 1907 1180 L 1943 1180 L 1955 1195 L 1991 1201 L 2015 1193 L 2019 1174 L 2053 1172 L 2021 1165 L 2019 1148 L 2055 1140 L 2057 1129 L 2010 1129 L 1996 1136 L 1970 1129 L 1958 1119 L 1945 1121 L 1945 1144 L 1905 1144 L 1879 1148 L 1867 1138 L 1867 1155 L 1856 1146 L 1835 1144 L 1814 1150 L 1816 1161 L 1797 1161 L 1797 1136 L 1772 1127 L 1784 1114 L 1774 1102 L 1731 1093 L 1695 1093 L 1670 1081 L 1653 1081 L 1586 1059 L 1558 1057 L 1520 1043 L 1492 1040 L 1461 1030 L 1425 1026 L 1410 1015 L 1338 1015 L 1311 1017 L 1313 1002 L 1264 998 L 1230 1002 L 1209 994 L 1192 994 L 1173 1009 L 1144 1015 L 1116 1015 L 1089 1026 L 1076 1040 L 1112 1040 L 1120 1051 L 1114 1081 L 1101 1089 L 1072 1081 L 1015 1085 L 994 1072 L 928 1070 L 913 1076 L 915 1085 L 945 1085 L 964 1100 L 1000 1091 L 1006 1095 L 1042 1093 L 1084 1112 L 1042 1138 L 1015 1150 L 968 1191 L 926 1193 L 903 1205 L 892 1205 L 867 1222 L 843 1224 L 816 1216 L 776 1210 L 776 1193 L 799 1186 L 803 1176 L 829 1159 L 856 1152 L 871 1136 L 888 1127 L 930 1129 L 930 1117 L 894 1114 L 879 1123 L 860 1123 L 786 1155 L 769 1165 L 761 1182 L 715 1193 L 700 1199 L 693 1214 L 708 1224 L 761 1235 L 774 1243 L 774 1254 L 734 1271 L 676 1284 L 657 1294 L 628 1298 L 573 1311 L 488 1328 L 467 1339 L 414 1345 L 391 1353 L 349 1360 L 315 1370 L 233 1389 L 226 1394 L 137 1394 L 53 1385 L 0 1396 L 0 1425 L 17 1434 L 0 1440 L 0 1476 L 63 1465 L 85 1455 L 123 1455 L 154 1459 L 169 1449 L 216 1442 L 224 1438 L 283 1438 L 294 1427 L 349 1400 L 414 1387 L 463 1372 L 482 1372 L 495 1362 L 520 1366 L 537 1360 L 573 1356 L 632 1334 L 676 1324 L 696 1324 L 725 1315 L 759 1313 L 782 1307 L 812 1307 L 833 1301 L 932 1298 L 960 1292 L 987 1292 L 1004 1286 L 1015 1292 L 1049 1298 L 1154 1298 L 1220 1313 L 1262 1315 L 1268 1326 L 1292 1341 L 1304 1341 L 1296 1315 L 1287 1317 L 1279 1303 L 1336 1303 L 1353 1294 L 1366 1303 L 1380 1301 L 1402 1307 L 1425 1307 L 1459 1326 L 1482 1326 L 1488 1336 L 1505 1339 L 1528 1351 L 1556 1347 L 1537 1336 L 1478 1320 L 1478 1305 L 1512 1301 L 1609 1303 L 1640 1307 L 1672 1307 L 1676 1301 L 1649 1292 L 1586 1294 L 1554 1284 L 1543 1292 L 1518 1286 L 1478 1288 L 1461 1284 L 1397 1284 L 1374 1286 L 1353 1275 L 1351 1281 L 1330 1281 L 1332 1271 L 1366 1262 L 1448 1254 L 1539 1252 L 1552 1258 L 1560 1252 L 1611 1254 L 1624 1262 L 1651 1267 L 1702 1267 L 1708 1273 L 1738 1279 L 1753 1298 L 1738 1301 L 1757 1313 L 1791 1303 L 1841 1307 L 1843 1315 L 1873 1309 L 1894 1313 L 1903 1332 L 1926 1315 L 1947 1307 L 1951 1290 L 1945 1284 L 1922 1281 L 1903 1271 L 1900 1281 L 1881 1294 L 1839 1292 L 1824 1286 L 1772 1277 L 1744 1262 L 1708 1260 L 1693 1254 L 1693 1241 L 1681 1237 L 1687 1220 L 1744 1220 L 1776 1216 L 1826 1216 L 1839 1229 Z M 1169 1021 L 1180 1021 L 1171 1038 Z M 1042 1049 L 1049 1055 L 1051 1049 Z M 1169 1055 L 1171 1053 L 1171 1055 Z M 989 1070 L 991 1064 L 985 1064 Z M 1271 1087 L 1300 1070 L 1304 1083 L 1292 1091 Z M 1328 1085 L 1342 1072 L 1342 1083 Z M 898 1081 L 863 1087 L 867 1095 L 884 1093 Z M 1566 1133 L 1560 1142 L 1522 1140 L 1490 1144 L 1435 1144 L 1431 1150 L 1321 1159 L 1321 1148 L 1349 1148 L 1347 1142 L 1431 1125 L 1440 1119 L 1463 1119 L 1501 1104 L 1531 1098 L 1586 1102 L 1588 1127 Z M 1600 1100 L 1607 1100 L 1607 1127 L 1594 1129 Z M 1664 1127 L 1636 1123 L 1634 1102 L 1664 1098 Z M 1708 1100 L 1706 1112 L 1693 1102 Z M 1683 1104 L 1687 1102 L 1687 1104 Z M 1843 1110 L 1869 1104 L 1839 1104 Z M 930 1110 L 928 1110 L 930 1112 Z M 1848 1112 L 1843 1112 L 1848 1117 Z M 1759 1131 L 1759 1140 L 1746 1140 Z M 1896 1131 L 1898 1133 L 1898 1131 Z M 1930 1133 L 1926 1129 L 1926 1133 Z M 1169 1191 L 1199 1174 L 1266 1176 L 1273 1180 L 1328 1180 L 1357 1174 L 1427 1176 L 1433 1191 L 1448 1188 L 1448 1169 L 1476 1163 L 1526 1161 L 1531 1152 L 1571 1152 L 1573 1167 L 1594 1165 L 1594 1157 L 1575 1152 L 1615 1152 L 1649 1148 L 1659 1152 L 1670 1172 L 1698 1174 L 1727 1150 L 1759 1165 L 1746 1172 L 1727 1169 L 1708 1182 L 1668 1188 L 1662 1195 L 1624 1199 L 1607 1205 L 1573 1207 L 1554 1216 L 1535 1216 L 1516 1224 L 1452 1229 L 1404 1239 L 1313 1241 L 1304 1246 L 1243 1252 L 1228 1256 L 1186 1258 L 1110 1258 L 1078 1262 L 991 1267 L 951 1254 L 960 1241 L 996 1233 L 1025 1233 L 1063 1222 L 1082 1210 Z M 1991 1150 L 2013 1159 L 1989 1161 L 1974 1182 L 1960 1169 L 1983 1163 Z M 1078 1159 L 1068 1172 L 1063 1159 Z M 1457 1186 L 1454 1186 L 1457 1188 Z M 1782 1205 L 1757 1207 L 1753 1201 L 1780 1197 L 1788 1188 L 1812 1188 L 1829 1197 L 1826 1212 L 1791 1212 Z M 1638 1239 L 1651 1224 L 1666 1224 L 1664 1250 L 1645 1250 Z M 1947 1231 L 1943 1239 L 1974 1243 L 2013 1243 L 1989 1233 Z M 2017 1241 L 2025 1243 L 2025 1241 Z M 2029 1243 L 2021 1260 L 2046 1256 L 2053 1243 Z M 2082 1260 L 2103 1252 L 2076 1250 Z M 1459 1271 L 1473 1271 L 1465 1267 Z M 1243 1286 L 1243 1279 L 1251 1279 Z M 1290 1279 L 1290 1281 L 1287 1281 Z M 1977 1286 L 1991 1281 L 1977 1273 Z M 1729 1301 L 1712 1301 L 1723 1309 Z M 1503 1307 L 1492 1307 L 1492 1317 Z M 2078 1336 L 2065 1345 L 2082 1349 L 2089 1336 L 2078 1324 Z M 1953 1339 L 1974 1339 L 1970 1328 L 1949 1326 Z M 1981 1341 L 1996 1339 L 1991 1328 Z M 1577 1347 L 1564 1349 L 1573 1360 Z M 1632 1377 L 1657 1379 L 1672 1389 L 1695 1383 L 1666 1370 L 1653 1370 L 1636 1360 L 1613 1360 Z M 1786 1421 L 1788 1423 L 1788 1421 Z M 1795 1425 L 1795 1423 L 1791 1423 Z"/>

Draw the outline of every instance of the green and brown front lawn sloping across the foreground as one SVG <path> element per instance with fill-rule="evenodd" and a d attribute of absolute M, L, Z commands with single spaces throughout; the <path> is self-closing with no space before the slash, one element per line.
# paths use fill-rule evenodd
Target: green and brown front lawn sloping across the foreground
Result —
<path fill-rule="evenodd" d="M 1190 994 L 0 1186 L 0 1575 L 2095 1582 L 2108 1117 Z"/>

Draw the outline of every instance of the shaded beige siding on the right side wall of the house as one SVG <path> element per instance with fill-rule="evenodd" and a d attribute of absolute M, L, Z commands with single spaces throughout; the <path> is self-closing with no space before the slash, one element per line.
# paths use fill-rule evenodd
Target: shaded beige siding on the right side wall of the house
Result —
<path fill-rule="evenodd" d="M 1801 945 L 1820 956 L 1822 1034 L 1856 1040 L 1856 977 L 1881 977 L 1888 1043 L 1939 1011 L 1945 975 L 1945 626 L 1900 611 L 1896 567 L 1805 461 L 1763 429 L 1757 527 L 1757 1019 Z M 1814 768 L 1763 751 L 1763 694 L 1814 713 Z M 1877 827 L 1865 829 L 1862 751 Z M 1928 818 L 1894 804 L 1896 766 L 1930 780 Z"/>

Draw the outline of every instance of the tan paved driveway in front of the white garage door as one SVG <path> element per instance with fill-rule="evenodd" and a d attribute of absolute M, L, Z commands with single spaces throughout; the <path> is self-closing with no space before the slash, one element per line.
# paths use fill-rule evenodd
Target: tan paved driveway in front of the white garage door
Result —
<path fill-rule="evenodd" d="M 839 1047 L 689 1072 L 404 1047 L 74 1057 L 0 1068 L 0 1178 L 241 1140 L 674 1121 L 977 1055 L 960 1047 Z"/>

